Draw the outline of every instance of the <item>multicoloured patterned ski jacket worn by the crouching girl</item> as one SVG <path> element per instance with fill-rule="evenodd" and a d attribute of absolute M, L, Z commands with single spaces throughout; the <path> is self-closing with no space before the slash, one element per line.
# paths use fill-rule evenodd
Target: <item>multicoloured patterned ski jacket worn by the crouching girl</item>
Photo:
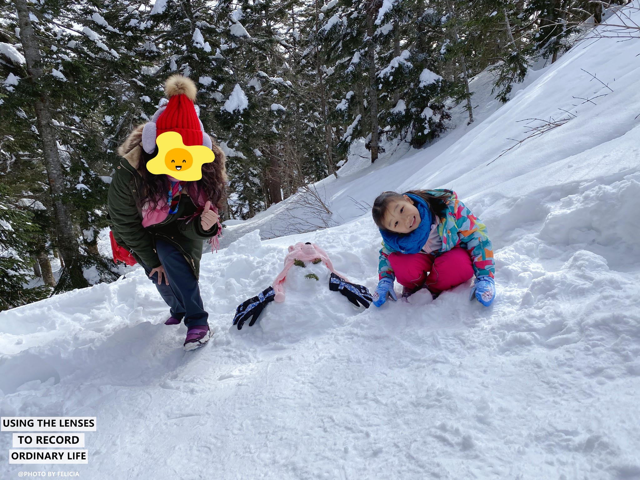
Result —
<path fill-rule="evenodd" d="M 429 190 L 434 195 L 442 195 L 444 190 Z M 440 218 L 438 223 L 438 235 L 442 237 L 442 248 L 436 252 L 424 253 L 423 255 L 439 255 L 448 252 L 454 246 L 460 245 L 469 250 L 476 276 L 488 275 L 493 278 L 495 263 L 493 262 L 493 247 L 486 234 L 484 223 L 479 221 L 470 210 L 465 207 L 455 192 L 449 200 L 449 207 L 445 218 Z M 396 252 L 384 241 L 380 249 L 380 263 L 378 264 L 378 274 L 380 278 L 388 276 L 395 280 L 396 274 L 391 268 L 388 256 Z"/>

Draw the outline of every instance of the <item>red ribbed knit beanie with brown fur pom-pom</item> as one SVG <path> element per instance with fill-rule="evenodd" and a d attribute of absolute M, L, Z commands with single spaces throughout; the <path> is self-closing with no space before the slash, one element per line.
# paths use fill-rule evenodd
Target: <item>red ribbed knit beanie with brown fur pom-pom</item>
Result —
<path fill-rule="evenodd" d="M 200 120 L 193 106 L 196 91 L 187 77 L 174 75 L 166 81 L 164 93 L 169 103 L 156 121 L 156 138 L 164 132 L 178 132 L 184 145 L 202 145 Z"/>

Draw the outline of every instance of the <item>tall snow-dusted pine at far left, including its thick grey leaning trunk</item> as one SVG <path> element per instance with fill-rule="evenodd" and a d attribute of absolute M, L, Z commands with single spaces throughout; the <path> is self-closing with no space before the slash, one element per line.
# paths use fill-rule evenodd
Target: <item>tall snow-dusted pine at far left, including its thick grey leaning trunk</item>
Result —
<path fill-rule="evenodd" d="M 123 29 L 134 11 L 111 1 L 28 6 L 19 0 L 15 10 L 5 8 L 4 34 L 15 29 L 26 72 L 0 108 L 20 108 L 35 119 L 38 141 L 28 151 L 44 159 L 51 201 L 43 203 L 55 219 L 51 246 L 65 265 L 56 291 L 117 278 L 95 242 L 107 225 L 104 180 L 115 159 L 105 124 L 112 123 L 108 112 L 128 107 L 122 77 L 137 66 L 140 38 Z"/>

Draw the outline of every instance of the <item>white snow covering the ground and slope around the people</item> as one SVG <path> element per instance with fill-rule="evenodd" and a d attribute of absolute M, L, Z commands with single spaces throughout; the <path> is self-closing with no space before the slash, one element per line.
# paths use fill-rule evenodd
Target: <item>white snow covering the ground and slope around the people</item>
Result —
<path fill-rule="evenodd" d="M 162 324 L 141 269 L 3 312 L 1 415 L 96 416 L 89 464 L 65 468 L 92 480 L 640 479 L 638 46 L 578 45 L 504 106 L 481 106 L 473 128 L 399 161 L 349 161 L 323 180 L 337 227 L 248 232 L 205 254 L 215 334 L 198 351 L 182 351 L 184 326 Z M 525 137 L 520 120 L 563 110 L 571 120 L 496 159 Z M 284 303 L 231 328 L 296 241 L 372 289 L 380 235 L 348 196 L 438 187 L 488 225 L 492 307 L 461 285 L 355 310 L 308 265 L 292 268 Z M 24 470 L 8 465 L 10 438 L 3 478 Z"/>

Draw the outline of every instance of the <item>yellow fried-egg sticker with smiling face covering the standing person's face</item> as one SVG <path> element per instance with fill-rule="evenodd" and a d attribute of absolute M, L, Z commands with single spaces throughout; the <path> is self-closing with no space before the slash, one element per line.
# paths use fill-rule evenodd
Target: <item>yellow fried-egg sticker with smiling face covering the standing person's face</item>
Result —
<path fill-rule="evenodd" d="M 204 145 L 184 145 L 178 132 L 164 132 L 156 138 L 158 154 L 147 162 L 147 170 L 155 175 L 171 175 L 178 180 L 202 179 L 202 164 L 216 156 Z"/>

